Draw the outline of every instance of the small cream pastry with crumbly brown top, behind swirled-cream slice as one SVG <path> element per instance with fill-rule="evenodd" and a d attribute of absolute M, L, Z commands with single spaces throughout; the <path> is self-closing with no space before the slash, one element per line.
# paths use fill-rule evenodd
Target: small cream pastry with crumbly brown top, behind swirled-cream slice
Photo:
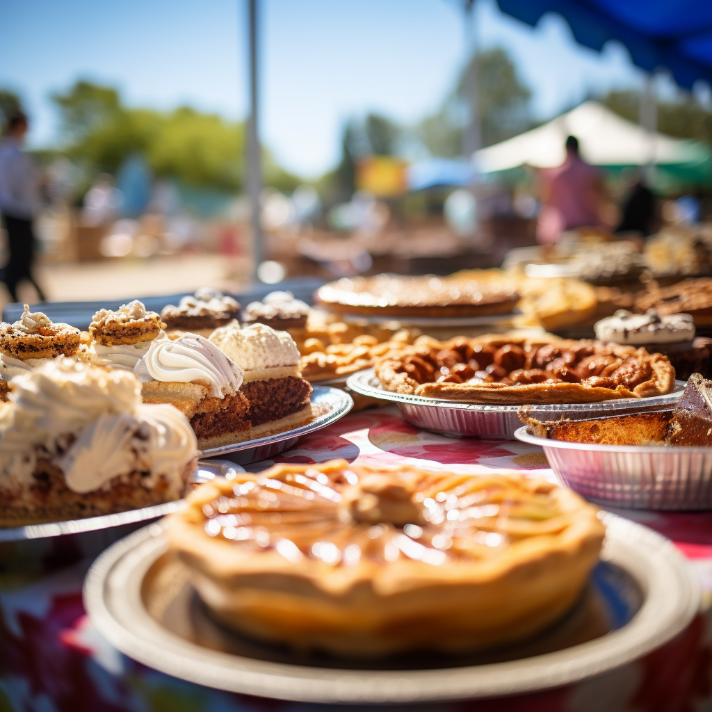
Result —
<path fill-rule="evenodd" d="M 100 309 L 89 327 L 89 357 L 95 364 L 133 372 L 165 324 L 137 299 L 116 311 Z"/>

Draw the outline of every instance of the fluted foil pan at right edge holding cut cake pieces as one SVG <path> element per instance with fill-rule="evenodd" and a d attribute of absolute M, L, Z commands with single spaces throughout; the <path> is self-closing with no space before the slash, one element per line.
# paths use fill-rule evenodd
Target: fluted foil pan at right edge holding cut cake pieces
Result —
<path fill-rule="evenodd" d="M 626 509 L 712 510 L 712 447 L 589 445 L 531 435 L 555 475 L 591 501 Z"/>

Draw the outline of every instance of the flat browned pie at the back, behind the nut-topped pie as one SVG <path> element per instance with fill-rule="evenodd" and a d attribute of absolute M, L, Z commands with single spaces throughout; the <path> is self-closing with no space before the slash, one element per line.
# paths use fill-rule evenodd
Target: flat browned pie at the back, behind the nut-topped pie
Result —
<path fill-rule="evenodd" d="M 465 317 L 509 314 L 519 295 L 515 283 L 455 281 L 425 275 L 343 278 L 319 288 L 320 304 L 341 313 L 392 317 Z"/>

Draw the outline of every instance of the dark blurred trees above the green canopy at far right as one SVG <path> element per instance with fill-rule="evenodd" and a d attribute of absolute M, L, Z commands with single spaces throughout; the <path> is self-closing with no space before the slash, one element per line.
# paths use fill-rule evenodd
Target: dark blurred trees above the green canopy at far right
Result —
<path fill-rule="evenodd" d="M 640 93 L 636 89 L 610 91 L 599 99 L 618 115 L 638 122 Z M 676 101 L 659 101 L 658 130 L 679 138 L 691 138 L 712 147 L 712 111 L 693 95 L 684 93 Z"/>

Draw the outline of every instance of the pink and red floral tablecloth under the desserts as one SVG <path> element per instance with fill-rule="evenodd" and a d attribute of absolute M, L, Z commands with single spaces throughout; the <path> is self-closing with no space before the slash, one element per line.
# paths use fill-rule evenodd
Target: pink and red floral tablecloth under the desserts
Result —
<path fill-rule="evenodd" d="M 396 409 L 349 415 L 278 458 L 402 463 L 464 473 L 506 467 L 553 477 L 543 453 L 511 440 L 454 439 L 421 431 Z M 271 465 L 258 463 L 248 469 Z M 523 696 L 412 706 L 423 712 L 712 711 L 712 513 L 619 511 L 668 536 L 704 590 L 703 610 L 676 639 L 634 664 L 579 684 Z M 112 648 L 84 613 L 90 560 L 0 575 L 0 712 L 306 712 L 333 706 L 224 693 L 137 664 Z M 355 709 L 353 707 L 344 709 Z"/>

